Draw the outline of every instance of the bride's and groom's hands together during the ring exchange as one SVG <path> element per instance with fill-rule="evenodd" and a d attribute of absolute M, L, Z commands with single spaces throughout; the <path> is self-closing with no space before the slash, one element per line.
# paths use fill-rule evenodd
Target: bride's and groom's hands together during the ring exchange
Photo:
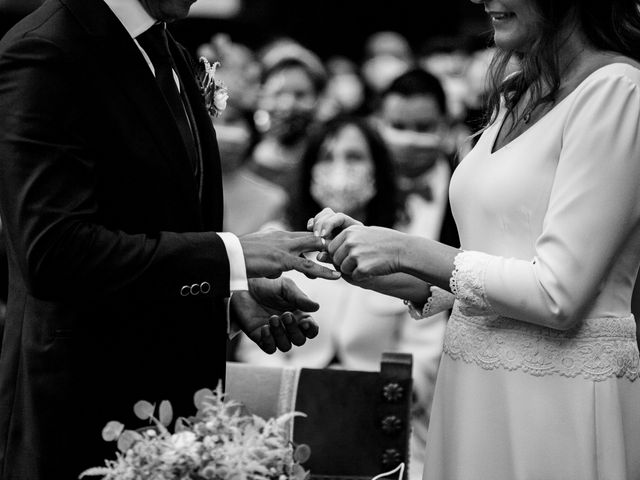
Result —
<path fill-rule="evenodd" d="M 307 312 L 319 305 L 291 279 L 280 277 L 282 272 L 298 270 L 310 278 L 332 280 L 342 273 L 366 288 L 368 279 L 400 268 L 402 238 L 395 230 L 365 227 L 330 208 L 310 219 L 307 228 L 309 233 L 273 230 L 240 237 L 249 291 L 234 293 L 232 318 L 266 353 L 286 352 L 318 334 Z M 313 251 L 320 251 L 318 260 L 332 263 L 337 271 L 303 256 Z"/>

